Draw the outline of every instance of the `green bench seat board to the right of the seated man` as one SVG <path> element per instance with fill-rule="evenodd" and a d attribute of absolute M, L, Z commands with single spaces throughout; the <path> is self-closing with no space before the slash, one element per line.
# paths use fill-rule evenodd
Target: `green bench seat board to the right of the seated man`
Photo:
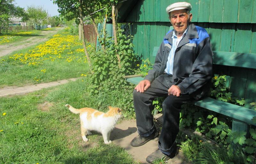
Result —
<path fill-rule="evenodd" d="M 196 102 L 195 105 L 235 118 L 248 124 L 256 125 L 252 122 L 252 118 L 256 116 L 256 111 L 248 108 L 226 103 L 210 97 L 206 97 L 203 100 Z"/>

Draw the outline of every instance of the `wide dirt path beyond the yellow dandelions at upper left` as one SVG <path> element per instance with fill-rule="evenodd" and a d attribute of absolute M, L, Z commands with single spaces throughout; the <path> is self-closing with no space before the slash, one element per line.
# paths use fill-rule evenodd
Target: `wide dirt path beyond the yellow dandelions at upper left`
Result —
<path fill-rule="evenodd" d="M 10 43 L 8 45 L 0 45 L 0 57 L 8 55 L 14 51 L 17 51 L 17 50 L 20 50 L 23 48 L 27 48 L 29 46 L 36 45 L 39 42 L 44 42 L 44 41 L 48 40 L 49 36 L 52 36 L 52 35 L 58 33 L 58 31 L 60 31 L 62 29 L 63 29 L 63 27 L 55 28 L 54 30 L 49 30 L 49 31 L 42 31 L 38 36 L 33 36 L 28 39 L 20 41 L 20 44 L 18 46 L 17 46 L 17 42 Z"/>

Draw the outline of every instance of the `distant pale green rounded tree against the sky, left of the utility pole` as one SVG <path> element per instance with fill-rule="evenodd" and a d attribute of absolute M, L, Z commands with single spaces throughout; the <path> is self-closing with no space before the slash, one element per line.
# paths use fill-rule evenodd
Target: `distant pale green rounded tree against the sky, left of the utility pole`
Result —
<path fill-rule="evenodd" d="M 29 25 L 41 25 L 47 18 L 47 12 L 42 6 L 28 6 L 27 14 Z"/>

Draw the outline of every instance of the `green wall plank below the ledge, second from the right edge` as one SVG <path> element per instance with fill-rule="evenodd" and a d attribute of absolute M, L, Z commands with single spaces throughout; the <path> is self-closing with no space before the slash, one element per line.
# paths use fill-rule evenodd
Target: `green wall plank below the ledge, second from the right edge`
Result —
<path fill-rule="evenodd" d="M 252 25 L 251 24 L 237 24 L 234 52 L 250 53 L 251 39 L 252 39 Z"/>

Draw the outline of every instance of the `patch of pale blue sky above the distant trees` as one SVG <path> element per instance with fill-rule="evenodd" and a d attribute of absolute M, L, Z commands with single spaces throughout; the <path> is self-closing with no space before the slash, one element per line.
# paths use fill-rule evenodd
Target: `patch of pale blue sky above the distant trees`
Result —
<path fill-rule="evenodd" d="M 27 6 L 42 6 L 49 16 L 59 15 L 57 4 L 53 4 L 51 0 L 15 0 L 16 6 L 20 6 L 27 10 Z"/>

